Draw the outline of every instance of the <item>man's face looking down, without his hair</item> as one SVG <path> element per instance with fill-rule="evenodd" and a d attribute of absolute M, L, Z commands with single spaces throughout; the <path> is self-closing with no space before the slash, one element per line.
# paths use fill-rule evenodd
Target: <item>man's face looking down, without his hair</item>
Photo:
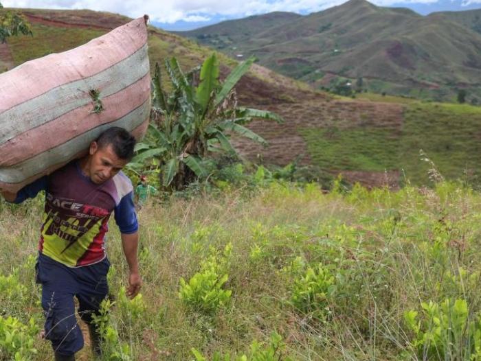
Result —
<path fill-rule="evenodd" d="M 113 178 L 128 163 L 126 159 L 120 159 L 113 151 L 111 145 L 99 148 L 93 141 L 90 145 L 90 179 L 93 183 L 102 184 Z"/>

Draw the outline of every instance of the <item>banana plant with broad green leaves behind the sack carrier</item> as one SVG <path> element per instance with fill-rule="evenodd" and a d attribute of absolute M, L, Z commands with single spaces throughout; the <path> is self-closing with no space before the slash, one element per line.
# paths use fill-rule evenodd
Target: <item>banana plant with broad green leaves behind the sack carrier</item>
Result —
<path fill-rule="evenodd" d="M 267 110 L 238 107 L 234 90 L 253 62 L 254 58 L 241 62 L 221 82 L 215 54 L 188 73 L 170 58 L 165 61 L 170 92 L 163 86 L 157 63 L 152 80 L 153 121 L 146 139 L 137 145 L 133 163 L 156 159 L 164 187 L 180 189 L 195 178 L 208 177 L 214 153 L 236 154 L 230 142 L 233 133 L 267 145 L 245 125 L 254 118 L 277 122 L 282 118 Z"/>

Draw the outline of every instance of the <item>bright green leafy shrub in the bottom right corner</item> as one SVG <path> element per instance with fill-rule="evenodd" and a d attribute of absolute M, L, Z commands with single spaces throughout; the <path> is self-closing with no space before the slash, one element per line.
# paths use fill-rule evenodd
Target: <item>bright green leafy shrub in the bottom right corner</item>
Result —
<path fill-rule="evenodd" d="M 421 303 L 423 314 L 405 312 L 412 345 L 423 360 L 481 360 L 481 319 L 464 299 Z"/>

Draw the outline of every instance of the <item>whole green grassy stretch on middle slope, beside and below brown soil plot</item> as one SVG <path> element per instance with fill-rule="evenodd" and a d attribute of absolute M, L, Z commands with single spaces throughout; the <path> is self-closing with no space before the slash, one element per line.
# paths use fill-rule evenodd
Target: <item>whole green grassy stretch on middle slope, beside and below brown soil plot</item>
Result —
<path fill-rule="evenodd" d="M 343 170 L 402 170 L 407 180 L 421 185 L 429 181 L 427 170 L 432 164 L 423 161 L 427 157 L 446 178 L 479 183 L 480 107 L 408 102 L 403 118 L 399 128 L 300 128 L 299 132 L 313 163 L 320 167 L 336 164 Z"/>

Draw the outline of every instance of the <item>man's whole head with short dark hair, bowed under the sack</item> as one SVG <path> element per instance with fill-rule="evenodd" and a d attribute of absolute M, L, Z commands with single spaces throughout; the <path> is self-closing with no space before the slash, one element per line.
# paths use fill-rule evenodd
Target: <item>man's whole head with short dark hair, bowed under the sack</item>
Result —
<path fill-rule="evenodd" d="M 134 147 L 135 138 L 131 133 L 123 128 L 109 128 L 90 144 L 82 170 L 93 183 L 104 183 L 132 159 Z"/>

